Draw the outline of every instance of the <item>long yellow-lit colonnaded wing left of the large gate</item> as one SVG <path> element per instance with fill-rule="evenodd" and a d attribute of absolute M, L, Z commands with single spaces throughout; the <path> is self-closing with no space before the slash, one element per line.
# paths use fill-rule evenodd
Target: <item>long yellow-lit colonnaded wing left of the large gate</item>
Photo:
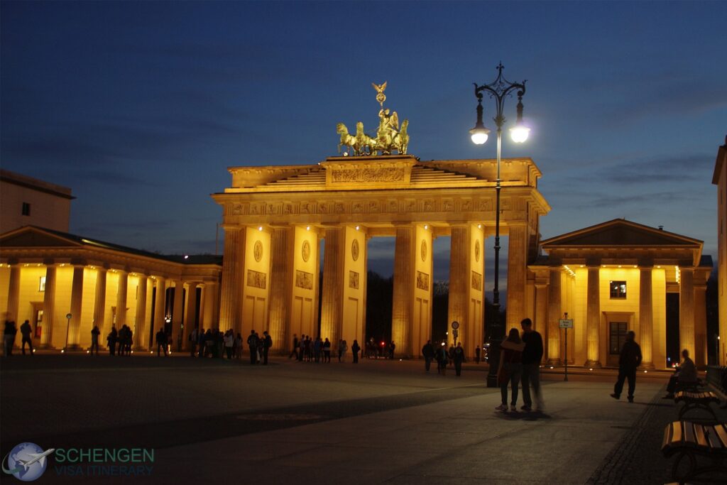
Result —
<path fill-rule="evenodd" d="M 114 324 L 132 328 L 135 349 L 165 325 L 172 348 L 186 348 L 193 326 L 217 326 L 219 263 L 26 226 L 0 238 L 0 315 L 28 320 L 36 348 L 89 348 L 94 325 L 105 345 Z"/>

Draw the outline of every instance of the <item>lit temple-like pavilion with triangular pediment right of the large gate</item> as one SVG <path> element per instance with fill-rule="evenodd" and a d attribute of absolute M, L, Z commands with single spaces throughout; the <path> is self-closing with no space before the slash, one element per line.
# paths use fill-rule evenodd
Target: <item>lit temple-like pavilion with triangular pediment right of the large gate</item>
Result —
<path fill-rule="evenodd" d="M 611 220 L 542 241 L 547 256 L 529 265 L 531 314 L 546 358 L 560 365 L 568 313 L 569 364 L 617 366 L 625 332 L 636 332 L 643 368 L 667 366 L 667 293 L 678 294 L 679 348 L 707 364 L 707 278 L 702 241 L 627 220 Z"/>

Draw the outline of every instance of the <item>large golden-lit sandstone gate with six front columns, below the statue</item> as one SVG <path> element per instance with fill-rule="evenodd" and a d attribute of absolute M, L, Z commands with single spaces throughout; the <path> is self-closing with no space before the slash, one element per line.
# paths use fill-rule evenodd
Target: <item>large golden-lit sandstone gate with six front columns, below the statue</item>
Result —
<path fill-rule="evenodd" d="M 467 355 L 483 342 L 485 239 L 494 233 L 493 160 L 332 157 L 314 165 L 231 167 L 223 209 L 220 329 L 268 330 L 275 348 L 293 334 L 363 342 L 366 241 L 395 236 L 392 339 L 418 356 L 431 337 L 432 241 L 451 236 L 449 322 Z M 502 161 L 502 234 L 509 236 L 507 326 L 527 316 L 527 262 L 550 206 L 530 159 Z M 324 242 L 323 281 L 318 261 Z"/>

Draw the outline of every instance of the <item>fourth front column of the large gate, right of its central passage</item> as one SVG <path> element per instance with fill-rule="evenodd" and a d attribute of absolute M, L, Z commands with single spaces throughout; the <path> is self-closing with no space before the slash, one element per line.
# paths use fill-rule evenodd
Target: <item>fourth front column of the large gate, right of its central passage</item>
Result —
<path fill-rule="evenodd" d="M 391 340 L 398 356 L 413 355 L 411 349 L 412 297 L 414 295 L 414 248 L 410 225 L 396 228 L 394 249 L 394 291 L 391 310 Z M 418 355 L 418 352 L 417 352 Z"/>

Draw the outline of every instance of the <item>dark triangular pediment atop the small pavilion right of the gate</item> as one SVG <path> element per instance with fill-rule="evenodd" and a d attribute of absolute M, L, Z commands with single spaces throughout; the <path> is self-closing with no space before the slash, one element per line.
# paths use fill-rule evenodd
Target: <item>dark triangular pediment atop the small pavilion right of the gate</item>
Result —
<path fill-rule="evenodd" d="M 617 247 L 617 246 L 668 246 L 683 248 L 699 248 L 702 241 L 632 223 L 624 219 L 615 219 L 606 223 L 593 225 L 589 228 L 573 231 L 561 236 L 542 241 L 543 249 L 550 247 Z"/>

